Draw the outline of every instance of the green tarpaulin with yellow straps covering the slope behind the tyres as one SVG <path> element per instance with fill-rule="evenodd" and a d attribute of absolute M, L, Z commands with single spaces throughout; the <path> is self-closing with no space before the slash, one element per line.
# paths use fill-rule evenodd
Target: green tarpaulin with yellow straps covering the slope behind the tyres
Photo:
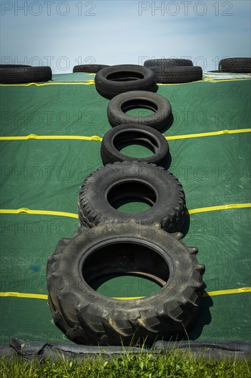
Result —
<path fill-rule="evenodd" d="M 11 337 L 69 342 L 53 324 L 43 297 L 47 295 L 46 263 L 58 240 L 71 237 L 78 227 L 73 214 L 77 214 L 80 186 L 102 166 L 101 142 L 95 138 L 5 137 L 103 137 L 110 129 L 108 100 L 99 96 L 93 82 L 87 82 L 93 78 L 88 74 L 67 74 L 53 76 L 46 85 L 0 86 L 2 343 Z M 251 80 L 206 79 L 161 85 L 158 93 L 171 102 L 173 109 L 172 124 L 163 131 L 165 136 L 174 137 L 169 140 L 169 170 L 184 187 L 188 210 L 194 210 L 187 220 L 184 242 L 198 246 L 198 260 L 206 265 L 204 282 L 209 296 L 203 299 L 200 319 L 190 337 L 248 342 L 250 208 L 243 204 L 251 202 L 247 130 L 251 124 Z M 230 133 L 218 133 L 225 130 Z M 145 154 L 141 146 L 136 152 L 133 147 L 127 151 Z M 240 206 L 222 208 L 230 204 Z M 124 210 L 130 211 L 130 206 Z M 140 210 L 141 204 L 138 206 Z M 214 206 L 220 209 L 212 209 Z M 6 210 L 21 208 L 71 214 L 28 214 L 28 210 L 6 214 Z M 200 212 L 195 210 L 198 208 L 206 209 Z M 236 290 L 241 288 L 241 292 Z M 104 283 L 98 291 L 107 296 L 128 297 L 146 296 L 156 289 L 152 282 L 123 277 Z M 19 298 L 18 293 L 42 297 Z"/>

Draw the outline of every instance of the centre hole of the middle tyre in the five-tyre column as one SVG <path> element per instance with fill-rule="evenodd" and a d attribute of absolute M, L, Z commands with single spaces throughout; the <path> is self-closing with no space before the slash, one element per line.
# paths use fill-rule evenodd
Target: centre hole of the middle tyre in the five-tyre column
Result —
<path fill-rule="evenodd" d="M 144 158 L 158 152 L 158 142 L 143 132 L 125 131 L 115 136 L 113 146 L 124 155 Z"/>

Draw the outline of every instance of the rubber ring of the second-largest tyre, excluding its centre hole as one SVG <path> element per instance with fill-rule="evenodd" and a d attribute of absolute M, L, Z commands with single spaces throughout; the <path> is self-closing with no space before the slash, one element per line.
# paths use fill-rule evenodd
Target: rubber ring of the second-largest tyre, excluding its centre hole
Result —
<path fill-rule="evenodd" d="M 137 170 L 137 178 L 142 176 L 150 188 L 154 186 L 154 190 L 158 190 L 158 186 L 161 185 L 165 186 L 165 191 L 162 192 L 160 204 L 155 204 L 150 210 L 136 214 L 119 212 L 113 209 L 101 194 L 104 186 L 106 186 L 104 181 L 108 177 L 107 183 L 109 184 L 113 173 L 116 177 L 118 171 L 121 179 L 128 179 L 128 177 L 135 179 L 135 174 L 130 176 L 130 172 L 134 169 Z M 144 170 L 147 170 L 147 175 L 141 175 Z M 151 176 L 153 179 L 151 179 Z M 167 199 L 167 185 L 169 185 L 169 190 L 172 190 L 173 196 L 169 204 L 167 203 L 169 200 Z M 164 192 L 165 194 L 163 194 Z M 101 198 L 99 208 L 97 208 L 98 197 Z M 129 219 L 134 219 L 134 221 L 143 225 L 159 224 L 167 232 L 177 232 L 182 229 L 186 216 L 184 190 L 177 177 L 163 167 L 156 166 L 156 164 L 115 162 L 97 169 L 84 181 L 78 197 L 78 215 L 80 223 L 88 227 L 94 227 L 101 221 L 123 223 Z"/>

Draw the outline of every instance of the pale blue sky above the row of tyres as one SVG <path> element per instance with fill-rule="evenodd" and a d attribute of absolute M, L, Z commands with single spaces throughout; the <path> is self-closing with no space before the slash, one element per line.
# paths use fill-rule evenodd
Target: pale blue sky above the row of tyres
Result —
<path fill-rule="evenodd" d="M 164 57 L 206 71 L 251 54 L 249 0 L 0 2 L 1 63 L 50 65 L 53 74 Z"/>

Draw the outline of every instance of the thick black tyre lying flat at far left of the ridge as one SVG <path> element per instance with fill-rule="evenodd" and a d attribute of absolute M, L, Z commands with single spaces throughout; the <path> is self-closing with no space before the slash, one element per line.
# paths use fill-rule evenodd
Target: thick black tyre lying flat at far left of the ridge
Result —
<path fill-rule="evenodd" d="M 46 82 L 51 80 L 51 78 L 51 67 L 12 67 L 0 69 L 0 82 L 2 84 Z"/>

